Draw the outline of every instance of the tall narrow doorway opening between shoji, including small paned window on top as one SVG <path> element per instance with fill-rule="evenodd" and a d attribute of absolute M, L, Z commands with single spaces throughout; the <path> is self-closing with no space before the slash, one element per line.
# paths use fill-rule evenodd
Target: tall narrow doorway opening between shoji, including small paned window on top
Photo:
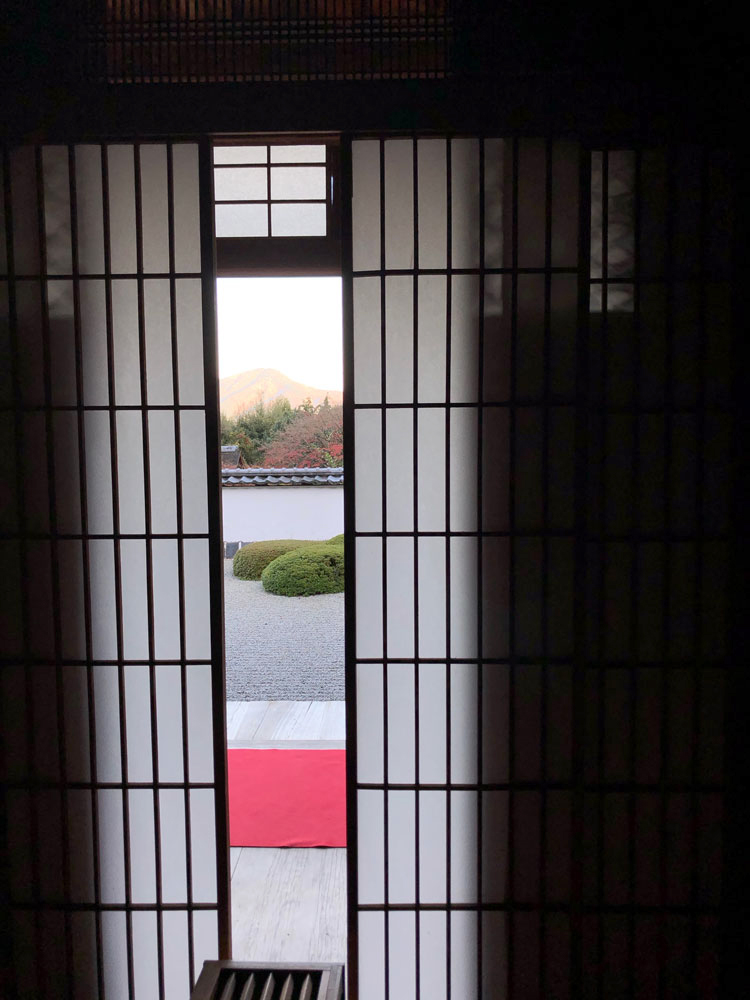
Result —
<path fill-rule="evenodd" d="M 214 146 L 236 959 L 346 958 L 336 154 Z"/>

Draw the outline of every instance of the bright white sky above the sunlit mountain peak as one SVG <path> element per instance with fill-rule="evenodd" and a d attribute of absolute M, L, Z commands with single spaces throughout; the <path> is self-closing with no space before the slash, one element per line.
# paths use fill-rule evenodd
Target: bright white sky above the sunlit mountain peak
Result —
<path fill-rule="evenodd" d="M 341 278 L 219 278 L 219 378 L 277 368 L 343 388 Z"/>

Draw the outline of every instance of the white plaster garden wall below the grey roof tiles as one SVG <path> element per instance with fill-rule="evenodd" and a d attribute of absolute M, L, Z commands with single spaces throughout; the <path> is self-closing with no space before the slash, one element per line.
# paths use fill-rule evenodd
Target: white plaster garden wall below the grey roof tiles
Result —
<path fill-rule="evenodd" d="M 225 486 L 225 542 L 331 538 L 344 530 L 343 486 Z"/>

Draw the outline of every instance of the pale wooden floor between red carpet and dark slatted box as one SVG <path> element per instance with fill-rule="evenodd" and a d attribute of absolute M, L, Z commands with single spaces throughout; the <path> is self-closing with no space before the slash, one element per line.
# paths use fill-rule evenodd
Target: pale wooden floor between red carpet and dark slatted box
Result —
<path fill-rule="evenodd" d="M 235 959 L 346 961 L 346 850 L 243 847 L 232 875 Z"/>

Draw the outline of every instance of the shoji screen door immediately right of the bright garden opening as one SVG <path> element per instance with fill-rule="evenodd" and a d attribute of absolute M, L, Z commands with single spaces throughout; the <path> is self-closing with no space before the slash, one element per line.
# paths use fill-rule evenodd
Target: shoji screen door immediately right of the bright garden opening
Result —
<path fill-rule="evenodd" d="M 567 974 L 579 156 L 353 143 L 361 1000 Z"/>

